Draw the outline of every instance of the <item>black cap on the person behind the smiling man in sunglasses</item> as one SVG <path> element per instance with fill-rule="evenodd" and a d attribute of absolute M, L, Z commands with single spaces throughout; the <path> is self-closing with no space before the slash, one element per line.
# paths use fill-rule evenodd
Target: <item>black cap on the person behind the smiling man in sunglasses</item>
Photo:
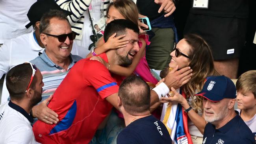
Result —
<path fill-rule="evenodd" d="M 50 9 L 57 9 L 63 11 L 67 16 L 72 14 L 70 11 L 61 9 L 54 0 L 37 0 L 37 2 L 32 4 L 30 9 L 28 10 L 27 16 L 30 20 L 30 23 L 28 23 L 25 27 L 29 28 L 36 22 L 40 21 L 41 17 L 43 17 L 43 14 L 50 11 Z"/>

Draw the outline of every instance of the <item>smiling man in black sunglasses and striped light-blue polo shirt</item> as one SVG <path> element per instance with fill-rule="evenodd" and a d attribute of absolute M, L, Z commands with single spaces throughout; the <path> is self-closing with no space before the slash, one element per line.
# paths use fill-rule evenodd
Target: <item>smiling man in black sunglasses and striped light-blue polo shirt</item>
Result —
<path fill-rule="evenodd" d="M 82 57 L 71 54 L 76 33 L 71 30 L 69 21 L 62 11 L 54 9 L 45 13 L 40 20 L 39 33 L 45 50 L 30 62 L 37 65 L 43 75 L 46 87 L 43 87 L 42 98 L 45 100 L 54 94 L 72 66 Z M 33 107 L 32 111 L 33 116 L 43 122 L 58 122 L 58 115 L 50 110 L 46 103 Z"/>

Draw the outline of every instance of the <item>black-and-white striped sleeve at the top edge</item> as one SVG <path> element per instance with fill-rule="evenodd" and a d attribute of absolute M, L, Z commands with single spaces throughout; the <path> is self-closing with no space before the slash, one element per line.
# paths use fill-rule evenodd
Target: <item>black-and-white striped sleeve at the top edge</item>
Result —
<path fill-rule="evenodd" d="M 62 9 L 72 12 L 72 15 L 69 15 L 67 18 L 69 19 L 69 23 L 73 26 L 88 9 L 91 0 L 56 0 L 56 3 Z"/>

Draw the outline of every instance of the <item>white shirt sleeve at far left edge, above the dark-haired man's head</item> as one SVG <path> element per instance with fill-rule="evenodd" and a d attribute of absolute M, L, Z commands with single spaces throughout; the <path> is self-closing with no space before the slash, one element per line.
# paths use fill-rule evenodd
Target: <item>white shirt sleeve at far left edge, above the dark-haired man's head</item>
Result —
<path fill-rule="evenodd" d="M 0 78 L 10 69 L 11 45 L 12 42 L 7 41 L 0 47 Z"/>

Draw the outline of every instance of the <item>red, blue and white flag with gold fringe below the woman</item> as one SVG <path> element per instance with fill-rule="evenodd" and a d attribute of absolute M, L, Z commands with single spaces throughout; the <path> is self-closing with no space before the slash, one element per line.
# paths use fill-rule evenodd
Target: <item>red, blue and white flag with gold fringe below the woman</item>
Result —
<path fill-rule="evenodd" d="M 182 90 L 177 92 L 186 98 Z M 193 144 L 187 125 L 187 113 L 177 103 L 164 103 L 161 121 L 165 124 L 174 144 Z"/>

